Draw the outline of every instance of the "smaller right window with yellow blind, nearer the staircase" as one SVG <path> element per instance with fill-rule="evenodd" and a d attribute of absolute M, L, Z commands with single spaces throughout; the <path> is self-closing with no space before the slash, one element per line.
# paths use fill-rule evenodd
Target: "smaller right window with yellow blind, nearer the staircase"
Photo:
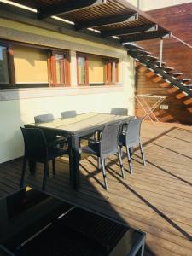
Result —
<path fill-rule="evenodd" d="M 78 84 L 105 85 L 118 82 L 118 59 L 77 54 Z"/>

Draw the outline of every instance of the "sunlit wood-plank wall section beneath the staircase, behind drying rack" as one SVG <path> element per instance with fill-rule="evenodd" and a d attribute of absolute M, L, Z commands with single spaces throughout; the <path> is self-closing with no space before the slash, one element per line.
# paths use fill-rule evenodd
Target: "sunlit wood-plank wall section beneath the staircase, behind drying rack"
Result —
<path fill-rule="evenodd" d="M 154 95 L 158 97 L 142 96 L 138 99 L 143 103 L 146 108 L 146 102 L 150 108 L 153 108 L 154 104 L 160 99 L 160 96 L 164 96 L 163 102 L 160 105 L 168 106 L 168 109 L 160 109 L 160 106 L 154 109 L 154 115 L 160 122 L 172 122 L 192 125 L 192 99 L 186 96 L 177 88 L 173 88 L 165 80 L 158 77 L 152 71 L 149 71 L 147 67 L 141 64 L 137 65 L 136 73 L 136 95 Z M 145 102 L 143 102 L 143 100 Z M 136 115 L 143 117 L 145 115 L 143 108 L 136 101 Z M 151 115 L 151 118 L 154 117 Z M 155 119 L 154 119 L 155 120 Z"/>

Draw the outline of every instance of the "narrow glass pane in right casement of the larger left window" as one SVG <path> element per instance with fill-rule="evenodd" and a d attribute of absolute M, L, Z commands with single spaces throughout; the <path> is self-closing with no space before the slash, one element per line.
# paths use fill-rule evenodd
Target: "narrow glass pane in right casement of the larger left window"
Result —
<path fill-rule="evenodd" d="M 56 82 L 57 84 L 65 84 L 65 56 L 55 55 L 56 61 Z"/>

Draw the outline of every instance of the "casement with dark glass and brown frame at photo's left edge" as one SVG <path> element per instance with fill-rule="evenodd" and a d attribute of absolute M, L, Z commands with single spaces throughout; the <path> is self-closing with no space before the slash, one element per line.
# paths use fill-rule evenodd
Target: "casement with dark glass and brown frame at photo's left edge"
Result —
<path fill-rule="evenodd" d="M 15 84 L 13 50 L 11 46 L 0 45 L 0 87 Z"/>

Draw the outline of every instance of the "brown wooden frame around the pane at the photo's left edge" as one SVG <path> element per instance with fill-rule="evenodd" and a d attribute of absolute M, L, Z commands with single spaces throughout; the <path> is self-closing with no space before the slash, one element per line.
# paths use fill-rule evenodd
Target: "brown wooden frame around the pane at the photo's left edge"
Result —
<path fill-rule="evenodd" d="M 0 46 L 7 49 L 7 60 L 8 60 L 8 73 L 9 73 L 9 84 L 1 84 L 0 89 L 15 88 L 15 66 L 14 66 L 14 51 L 13 45 L 8 42 L 0 41 Z"/>

